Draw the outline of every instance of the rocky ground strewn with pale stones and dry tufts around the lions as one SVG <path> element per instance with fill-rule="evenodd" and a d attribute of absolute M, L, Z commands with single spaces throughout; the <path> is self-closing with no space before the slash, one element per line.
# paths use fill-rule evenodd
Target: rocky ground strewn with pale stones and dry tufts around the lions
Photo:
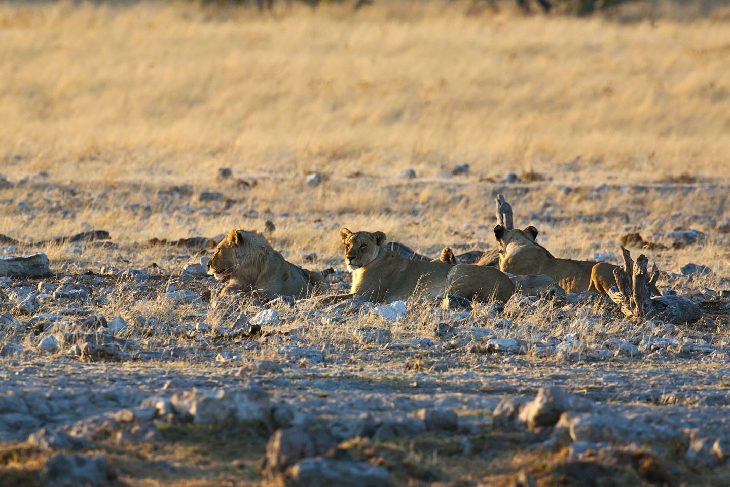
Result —
<path fill-rule="evenodd" d="M 29 223 L 99 196 L 8 184 L 7 212 Z M 299 218 L 171 191 L 128 211 L 185 221 L 192 197 Z M 525 220 L 559 229 L 549 211 Z M 693 326 L 630 321 L 592 293 L 449 310 L 223 299 L 205 273 L 215 235 L 16 232 L 0 248 L 0 268 L 18 266 L 0 277 L 0 485 L 729 485 L 730 275 L 700 260 L 726 252 L 727 230 L 680 219 L 644 237 L 664 252 L 661 291 L 702 308 Z M 461 250 L 484 245 L 471 232 Z M 349 287 L 337 253 L 304 250 L 293 261 Z"/>

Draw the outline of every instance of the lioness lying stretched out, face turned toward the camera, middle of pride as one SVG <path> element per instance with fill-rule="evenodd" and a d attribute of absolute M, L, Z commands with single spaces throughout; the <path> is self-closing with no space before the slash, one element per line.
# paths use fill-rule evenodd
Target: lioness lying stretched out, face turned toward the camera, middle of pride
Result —
<path fill-rule="evenodd" d="M 339 237 L 345 245 L 345 262 L 353 272 L 353 284 L 350 293 L 322 296 L 317 298 L 319 304 L 331 304 L 356 296 L 372 302 L 399 301 L 413 294 L 441 299 L 447 289 L 453 292 L 452 288 L 456 288 L 458 296 L 469 299 L 475 296 L 488 299 L 496 295 L 497 299 L 506 300 L 509 296 L 504 296 L 508 292 L 511 296 L 514 291 L 509 278 L 497 269 L 489 272 L 485 271 L 488 268 L 469 264 L 449 264 L 448 261 L 453 260 L 449 251 L 442 252 L 447 262 L 438 259 L 414 261 L 387 248 L 382 231 L 353 232 L 343 228 Z"/>

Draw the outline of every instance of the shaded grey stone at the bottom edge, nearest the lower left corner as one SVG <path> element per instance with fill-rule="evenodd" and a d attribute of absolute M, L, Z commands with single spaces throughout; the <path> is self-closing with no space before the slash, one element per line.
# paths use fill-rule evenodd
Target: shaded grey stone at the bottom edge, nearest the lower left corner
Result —
<path fill-rule="evenodd" d="M 60 453 L 45 463 L 45 483 L 50 487 L 101 486 L 109 480 L 107 457 Z"/>

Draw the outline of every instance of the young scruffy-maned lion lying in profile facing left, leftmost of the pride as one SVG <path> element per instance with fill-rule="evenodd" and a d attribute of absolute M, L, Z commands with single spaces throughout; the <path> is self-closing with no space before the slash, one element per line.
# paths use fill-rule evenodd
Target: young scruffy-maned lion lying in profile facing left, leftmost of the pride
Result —
<path fill-rule="evenodd" d="M 249 291 L 263 299 L 299 299 L 325 287 L 320 273 L 286 261 L 255 231 L 231 230 L 215 248 L 208 269 L 216 279 L 226 281 L 221 294 Z"/>

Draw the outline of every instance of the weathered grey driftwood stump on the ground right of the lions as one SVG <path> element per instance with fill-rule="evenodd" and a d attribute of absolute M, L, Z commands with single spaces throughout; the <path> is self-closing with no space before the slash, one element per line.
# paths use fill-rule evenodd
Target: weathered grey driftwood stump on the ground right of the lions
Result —
<path fill-rule="evenodd" d="M 616 285 L 612 286 L 608 295 L 613 302 L 621 306 L 626 316 L 644 320 L 661 320 L 672 323 L 694 323 L 702 318 L 702 310 L 691 299 L 681 296 L 651 297 L 649 283 L 656 284 L 659 277 L 656 265 L 651 277 L 648 277 L 649 259 L 644 254 L 634 262 L 631 253 L 621 247 L 623 268 L 613 271 Z"/>

